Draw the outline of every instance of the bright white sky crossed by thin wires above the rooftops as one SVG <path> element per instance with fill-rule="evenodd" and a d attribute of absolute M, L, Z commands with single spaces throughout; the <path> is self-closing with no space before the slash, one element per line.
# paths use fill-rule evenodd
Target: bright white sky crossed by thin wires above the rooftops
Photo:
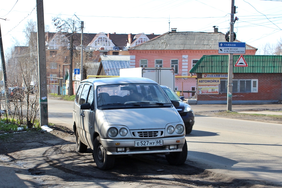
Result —
<path fill-rule="evenodd" d="M 218 26 L 225 34 L 230 27 L 231 0 L 44 0 L 43 5 L 49 32 L 57 31 L 53 17 L 79 18 L 84 33 L 164 34 L 171 28 L 213 32 Z M 235 0 L 235 6 L 239 20 L 234 32 L 239 41 L 260 51 L 266 43 L 281 39 L 282 0 Z M 8 53 L 15 45 L 26 45 L 23 32 L 28 21 L 37 21 L 36 0 L 2 0 L 0 18 L 4 53 Z"/>

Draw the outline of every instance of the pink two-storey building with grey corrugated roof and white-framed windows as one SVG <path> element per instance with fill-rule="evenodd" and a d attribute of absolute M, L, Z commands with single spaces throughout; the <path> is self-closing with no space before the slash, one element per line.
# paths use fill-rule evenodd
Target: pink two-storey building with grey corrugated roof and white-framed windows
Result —
<path fill-rule="evenodd" d="M 221 32 L 167 32 L 129 48 L 130 65 L 174 67 L 175 76 L 191 76 L 189 71 L 203 55 L 219 55 L 219 42 L 226 42 Z M 246 44 L 245 55 L 255 55 L 256 51 L 257 48 Z M 174 90 L 195 91 L 196 79 L 176 77 Z M 184 93 L 184 96 L 193 94 Z"/>

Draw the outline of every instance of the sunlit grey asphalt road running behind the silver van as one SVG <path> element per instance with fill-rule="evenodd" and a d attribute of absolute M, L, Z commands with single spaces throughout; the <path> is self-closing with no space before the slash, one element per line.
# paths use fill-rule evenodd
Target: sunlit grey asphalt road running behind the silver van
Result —
<path fill-rule="evenodd" d="M 72 129 L 73 102 L 48 99 L 49 122 Z M 226 105 L 193 105 L 194 111 Z M 277 105 L 234 105 L 233 109 L 277 109 Z M 196 116 L 188 141 L 188 160 L 239 179 L 270 181 L 282 186 L 282 124 Z"/>

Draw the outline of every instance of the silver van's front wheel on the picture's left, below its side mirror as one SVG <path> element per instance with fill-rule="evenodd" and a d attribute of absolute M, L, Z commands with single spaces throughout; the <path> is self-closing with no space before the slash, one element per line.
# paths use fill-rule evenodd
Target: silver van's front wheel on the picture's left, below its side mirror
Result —
<path fill-rule="evenodd" d="M 93 159 L 100 170 L 107 170 L 114 167 L 114 156 L 108 155 L 104 149 L 100 136 L 97 136 L 93 144 Z"/>

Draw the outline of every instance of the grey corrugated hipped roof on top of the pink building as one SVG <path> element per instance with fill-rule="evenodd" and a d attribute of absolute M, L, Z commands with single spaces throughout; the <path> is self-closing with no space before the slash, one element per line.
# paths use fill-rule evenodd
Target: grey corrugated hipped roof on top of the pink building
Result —
<path fill-rule="evenodd" d="M 167 32 L 128 50 L 218 50 L 219 42 L 226 42 L 221 32 Z M 246 45 L 246 50 L 257 48 Z"/>

